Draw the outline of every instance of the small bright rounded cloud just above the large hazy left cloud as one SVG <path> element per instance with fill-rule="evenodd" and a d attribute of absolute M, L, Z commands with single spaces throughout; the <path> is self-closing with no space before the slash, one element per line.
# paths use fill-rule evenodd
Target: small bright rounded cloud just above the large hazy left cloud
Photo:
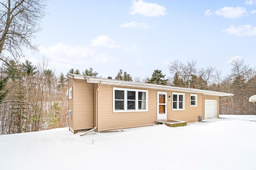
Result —
<path fill-rule="evenodd" d="M 97 38 L 92 40 L 92 43 L 91 43 L 93 47 L 109 47 L 109 48 L 117 47 L 117 45 L 115 44 L 116 42 L 111 38 L 109 38 L 108 36 L 98 36 Z"/>

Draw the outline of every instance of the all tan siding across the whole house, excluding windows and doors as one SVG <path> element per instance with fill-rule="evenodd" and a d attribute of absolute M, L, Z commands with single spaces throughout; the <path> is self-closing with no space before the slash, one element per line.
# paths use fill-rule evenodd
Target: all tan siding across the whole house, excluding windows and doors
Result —
<path fill-rule="evenodd" d="M 106 85 L 99 83 L 87 83 L 85 79 L 68 79 L 68 87 L 72 87 L 72 99 L 69 99 L 68 109 L 72 110 L 72 118 L 68 119 L 69 126 L 73 130 L 89 129 L 98 126 L 98 131 L 116 130 L 122 128 L 143 127 L 152 125 L 157 121 L 157 92 L 166 92 L 167 119 L 197 122 L 198 116 L 204 119 L 204 100 L 217 100 L 217 116 L 219 115 L 219 97 L 202 95 L 200 93 L 184 93 L 184 110 L 172 111 L 172 93 L 180 91 L 148 90 L 148 111 L 115 112 L 113 113 L 113 87 L 125 89 L 138 89 L 126 86 Z M 97 91 L 98 89 L 98 96 Z M 190 107 L 190 94 L 197 95 L 197 106 Z M 98 101 L 97 101 L 98 99 Z M 98 106 L 97 106 L 98 103 Z M 97 115 L 98 109 L 98 115 Z M 98 116 L 98 117 L 97 117 Z M 98 125 L 97 125 L 98 119 Z"/>

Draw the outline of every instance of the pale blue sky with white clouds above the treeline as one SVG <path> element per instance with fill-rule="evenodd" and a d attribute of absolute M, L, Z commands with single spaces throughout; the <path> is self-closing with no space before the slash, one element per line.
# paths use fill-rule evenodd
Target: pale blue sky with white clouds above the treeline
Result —
<path fill-rule="evenodd" d="M 43 30 L 33 41 L 56 74 L 92 67 L 102 77 L 119 69 L 151 77 L 171 76 L 176 59 L 214 66 L 223 75 L 230 60 L 256 66 L 256 0 L 63 0 L 48 1 Z"/>

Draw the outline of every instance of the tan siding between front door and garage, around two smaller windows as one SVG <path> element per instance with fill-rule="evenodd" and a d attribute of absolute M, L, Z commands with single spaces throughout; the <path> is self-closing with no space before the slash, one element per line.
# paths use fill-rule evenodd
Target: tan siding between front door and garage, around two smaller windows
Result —
<path fill-rule="evenodd" d="M 176 93 L 181 93 L 179 91 L 173 91 Z M 197 95 L 197 106 L 196 107 L 190 107 L 190 94 L 196 94 Z M 171 98 L 168 98 L 167 101 L 167 119 L 168 120 L 177 120 L 177 121 L 186 121 L 188 123 L 197 122 L 198 116 L 203 115 L 202 110 L 202 94 L 197 93 L 185 93 L 185 110 L 180 111 L 172 111 L 172 91 L 168 91 L 167 95 L 170 95 Z"/>

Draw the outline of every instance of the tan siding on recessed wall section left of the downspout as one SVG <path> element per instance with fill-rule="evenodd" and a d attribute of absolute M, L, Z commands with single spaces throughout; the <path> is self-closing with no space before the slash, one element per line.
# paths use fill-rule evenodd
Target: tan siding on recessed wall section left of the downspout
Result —
<path fill-rule="evenodd" d="M 93 84 L 74 80 L 74 130 L 93 128 Z"/>

